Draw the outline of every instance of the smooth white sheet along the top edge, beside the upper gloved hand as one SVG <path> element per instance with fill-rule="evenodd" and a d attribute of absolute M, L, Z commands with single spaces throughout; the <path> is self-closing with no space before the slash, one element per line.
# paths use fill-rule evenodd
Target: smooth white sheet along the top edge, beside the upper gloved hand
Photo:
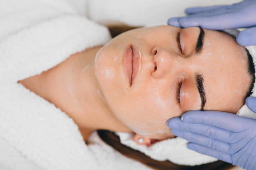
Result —
<path fill-rule="evenodd" d="M 166 25 L 171 17 L 185 16 L 191 6 L 223 5 L 242 0 L 88 0 L 88 17 L 104 25 Z"/>

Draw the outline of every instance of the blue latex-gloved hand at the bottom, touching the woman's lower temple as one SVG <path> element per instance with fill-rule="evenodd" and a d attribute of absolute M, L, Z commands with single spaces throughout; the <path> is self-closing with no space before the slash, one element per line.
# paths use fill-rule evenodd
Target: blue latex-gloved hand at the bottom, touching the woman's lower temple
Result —
<path fill-rule="evenodd" d="M 246 104 L 256 112 L 256 97 Z M 168 120 L 172 133 L 190 142 L 187 148 L 256 170 L 256 120 L 226 112 L 193 110 Z"/>

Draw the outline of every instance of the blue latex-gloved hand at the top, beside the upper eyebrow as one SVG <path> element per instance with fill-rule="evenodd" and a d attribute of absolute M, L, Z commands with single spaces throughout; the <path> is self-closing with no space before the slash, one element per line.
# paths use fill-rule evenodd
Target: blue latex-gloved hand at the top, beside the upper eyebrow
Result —
<path fill-rule="evenodd" d="M 256 0 L 244 0 L 233 5 L 191 7 L 185 10 L 186 17 L 170 18 L 168 25 L 224 30 L 247 28 L 239 33 L 240 45 L 256 45 Z"/>

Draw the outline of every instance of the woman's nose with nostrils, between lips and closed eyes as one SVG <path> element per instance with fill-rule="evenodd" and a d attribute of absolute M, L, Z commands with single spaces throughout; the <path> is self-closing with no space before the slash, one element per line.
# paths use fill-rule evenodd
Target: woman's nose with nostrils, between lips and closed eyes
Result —
<path fill-rule="evenodd" d="M 161 47 L 154 47 L 151 51 L 154 61 L 154 72 L 151 73 L 152 77 L 161 79 L 168 73 L 175 73 L 181 66 L 182 57 L 172 54 L 168 50 Z"/>

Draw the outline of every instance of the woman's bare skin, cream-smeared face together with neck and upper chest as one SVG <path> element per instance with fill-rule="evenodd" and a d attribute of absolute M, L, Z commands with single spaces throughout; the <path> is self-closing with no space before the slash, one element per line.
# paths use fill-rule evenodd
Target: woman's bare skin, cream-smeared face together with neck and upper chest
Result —
<path fill-rule="evenodd" d="M 84 140 L 97 129 L 146 143 L 171 138 L 167 120 L 202 109 L 202 101 L 204 110 L 236 113 L 251 83 L 246 50 L 225 33 L 203 31 L 198 51 L 198 27 L 130 30 L 19 82 L 72 117 Z"/>

